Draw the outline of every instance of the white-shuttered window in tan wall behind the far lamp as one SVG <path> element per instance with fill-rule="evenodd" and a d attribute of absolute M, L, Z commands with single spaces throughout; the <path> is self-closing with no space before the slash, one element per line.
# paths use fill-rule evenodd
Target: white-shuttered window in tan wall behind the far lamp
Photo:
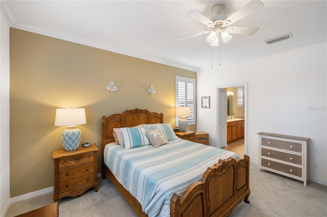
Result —
<path fill-rule="evenodd" d="M 195 117 L 195 79 L 175 76 L 175 106 L 190 107 L 191 117 L 188 117 L 188 125 L 196 123 Z M 178 126 L 178 118 L 175 120 Z"/>

